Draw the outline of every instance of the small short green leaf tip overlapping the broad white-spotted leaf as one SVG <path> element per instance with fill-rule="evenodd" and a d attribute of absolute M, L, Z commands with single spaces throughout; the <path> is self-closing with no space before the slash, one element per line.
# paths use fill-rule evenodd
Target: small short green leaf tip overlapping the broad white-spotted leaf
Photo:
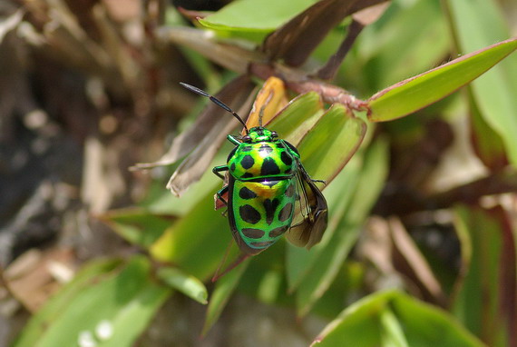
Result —
<path fill-rule="evenodd" d="M 197 302 L 207 304 L 209 297 L 207 288 L 196 277 L 182 273 L 173 267 L 161 267 L 156 274 L 172 288 L 177 289 Z"/>

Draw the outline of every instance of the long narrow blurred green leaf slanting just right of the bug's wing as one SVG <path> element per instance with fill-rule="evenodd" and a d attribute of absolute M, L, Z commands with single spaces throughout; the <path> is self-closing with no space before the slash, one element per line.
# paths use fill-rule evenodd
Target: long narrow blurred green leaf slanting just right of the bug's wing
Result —
<path fill-rule="evenodd" d="M 337 222 L 336 232 L 328 243 L 318 250 L 317 261 L 298 286 L 297 305 L 300 314 L 306 314 L 312 305 L 327 291 L 336 278 L 346 255 L 356 243 L 361 226 L 366 221 L 373 204 L 381 192 L 387 173 L 387 144 L 377 140 L 366 152 L 365 163 L 359 173 L 352 202 Z M 341 191 L 353 189 L 339 187 Z M 309 264 L 310 265 L 310 264 Z"/>

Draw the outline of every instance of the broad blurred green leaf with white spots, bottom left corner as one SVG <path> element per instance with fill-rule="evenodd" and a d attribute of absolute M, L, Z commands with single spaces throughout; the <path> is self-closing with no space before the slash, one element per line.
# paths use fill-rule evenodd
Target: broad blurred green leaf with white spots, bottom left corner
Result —
<path fill-rule="evenodd" d="M 121 273 L 89 283 L 30 346 L 75 346 L 80 339 L 102 347 L 131 346 L 171 292 L 154 283 L 150 271 L 149 261 L 135 256 Z"/>

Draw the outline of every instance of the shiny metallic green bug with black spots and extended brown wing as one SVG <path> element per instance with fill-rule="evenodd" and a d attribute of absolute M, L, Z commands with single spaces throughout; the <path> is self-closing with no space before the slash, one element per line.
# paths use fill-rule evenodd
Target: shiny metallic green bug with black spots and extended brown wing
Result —
<path fill-rule="evenodd" d="M 288 241 L 309 249 L 327 228 L 327 202 L 300 161 L 298 149 L 262 126 L 248 129 L 239 114 L 216 97 L 190 84 L 191 92 L 208 97 L 244 126 L 244 136 L 228 135 L 236 147 L 227 164 L 213 168 L 219 178 L 228 172 L 228 184 L 216 194 L 227 205 L 229 227 L 244 257 L 266 250 L 285 233 Z M 223 196 L 228 196 L 228 201 Z"/>

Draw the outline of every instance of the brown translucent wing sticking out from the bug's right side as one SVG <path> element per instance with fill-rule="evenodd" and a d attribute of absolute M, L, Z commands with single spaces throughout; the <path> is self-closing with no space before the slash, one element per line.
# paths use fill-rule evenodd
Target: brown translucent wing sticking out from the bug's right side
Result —
<path fill-rule="evenodd" d="M 302 164 L 298 162 L 300 213 L 303 221 L 294 223 L 286 233 L 289 243 L 309 250 L 319 243 L 327 229 L 328 208 L 325 196 L 311 180 Z M 304 211 L 305 210 L 305 211 Z"/>

